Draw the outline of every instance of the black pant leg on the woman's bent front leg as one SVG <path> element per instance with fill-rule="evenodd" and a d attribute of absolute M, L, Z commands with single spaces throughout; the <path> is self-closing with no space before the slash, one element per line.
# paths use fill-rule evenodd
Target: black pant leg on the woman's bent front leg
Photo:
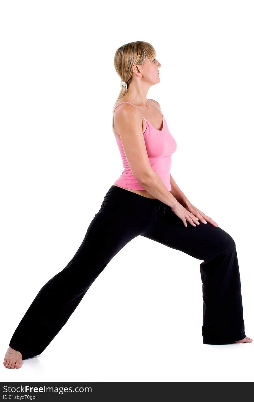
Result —
<path fill-rule="evenodd" d="M 187 222 L 186 228 L 167 206 L 142 236 L 204 260 L 200 265 L 203 343 L 221 345 L 245 338 L 236 244 L 227 232 L 208 222 L 197 226 Z"/>

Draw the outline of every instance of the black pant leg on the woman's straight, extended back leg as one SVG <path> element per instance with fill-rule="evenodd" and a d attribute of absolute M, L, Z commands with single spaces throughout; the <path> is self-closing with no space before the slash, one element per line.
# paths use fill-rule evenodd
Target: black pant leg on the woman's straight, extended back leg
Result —
<path fill-rule="evenodd" d="M 148 227 L 149 219 L 135 209 L 135 197 L 129 196 L 127 206 L 114 197 L 95 215 L 75 256 L 41 288 L 16 328 L 9 346 L 20 351 L 22 359 L 44 351 L 113 256 Z"/>

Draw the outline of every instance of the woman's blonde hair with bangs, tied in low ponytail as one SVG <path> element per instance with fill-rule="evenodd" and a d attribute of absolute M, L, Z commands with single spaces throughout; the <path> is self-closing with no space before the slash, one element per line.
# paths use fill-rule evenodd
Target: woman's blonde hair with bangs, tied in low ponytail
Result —
<path fill-rule="evenodd" d="M 143 41 L 126 43 L 117 49 L 114 57 L 114 66 L 121 80 L 126 82 L 127 88 L 126 85 L 122 86 L 114 107 L 118 100 L 128 92 L 128 84 L 132 80 L 132 67 L 135 64 L 143 64 L 146 57 L 151 62 L 155 56 L 156 51 L 154 47 L 150 43 Z"/>

